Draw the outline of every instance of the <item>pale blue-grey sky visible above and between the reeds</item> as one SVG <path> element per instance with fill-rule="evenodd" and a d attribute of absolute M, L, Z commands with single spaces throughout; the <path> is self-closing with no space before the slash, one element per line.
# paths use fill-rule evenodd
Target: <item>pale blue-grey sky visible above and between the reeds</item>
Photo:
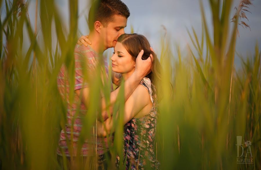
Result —
<path fill-rule="evenodd" d="M 186 45 L 191 45 L 191 40 L 186 28 L 195 31 L 201 36 L 201 12 L 199 0 L 122 0 L 130 10 L 130 17 L 128 18 L 126 33 L 130 33 L 131 26 L 135 33 L 143 34 L 151 43 L 156 52 L 160 52 L 160 39 L 164 34 L 166 28 L 167 37 L 171 41 L 173 49 L 175 45 L 179 45 L 182 52 L 186 53 Z M 55 0 L 61 16 L 63 16 L 64 24 L 69 23 L 69 6 L 68 0 Z M 212 29 L 211 13 L 208 0 L 202 0 L 206 19 L 209 29 Z M 251 31 L 246 28 L 238 27 L 240 37 L 237 39 L 236 52 L 246 57 L 253 54 L 254 47 L 258 42 L 261 49 L 261 1 L 253 0 L 253 6 L 250 6 L 246 13 L 249 21 L 246 21 L 250 26 Z M 234 0 L 233 7 L 238 6 L 240 0 Z M 35 0 L 28 0 L 28 13 L 30 16 L 32 27 L 34 28 L 35 21 Z M 85 16 L 88 16 L 90 8 L 90 0 L 78 0 L 79 8 L 79 31 L 83 35 L 89 33 Z M 232 9 L 231 18 L 235 13 Z M 1 19 L 4 16 L 3 9 L 1 11 Z M 244 20 L 245 21 L 245 20 Z M 39 16 L 38 16 L 39 22 Z M 66 26 L 65 26 L 66 28 Z M 40 29 L 38 23 L 37 30 Z M 54 28 L 53 28 L 54 29 Z M 26 41 L 26 40 L 25 40 Z M 53 39 L 53 44 L 56 44 L 56 39 Z M 110 51 L 110 50 L 109 50 Z M 175 50 L 173 50 L 175 51 Z M 175 52 L 174 52 L 175 53 Z M 240 59 L 235 57 L 235 66 L 240 66 Z"/>

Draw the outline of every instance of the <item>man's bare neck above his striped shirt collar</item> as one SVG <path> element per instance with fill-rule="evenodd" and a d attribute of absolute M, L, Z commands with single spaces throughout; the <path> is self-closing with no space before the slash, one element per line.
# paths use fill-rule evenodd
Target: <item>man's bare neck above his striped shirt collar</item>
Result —
<path fill-rule="evenodd" d="M 96 35 L 95 33 L 90 33 L 88 39 L 90 40 L 90 42 L 92 42 L 92 44 L 89 46 L 92 47 L 92 49 L 98 54 L 101 54 L 105 50 L 107 50 L 107 47 L 105 47 L 103 44 L 102 38 Z"/>

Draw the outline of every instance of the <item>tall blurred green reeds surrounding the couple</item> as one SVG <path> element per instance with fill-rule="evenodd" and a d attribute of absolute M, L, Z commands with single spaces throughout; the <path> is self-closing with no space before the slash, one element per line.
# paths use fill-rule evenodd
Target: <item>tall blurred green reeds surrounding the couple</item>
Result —
<path fill-rule="evenodd" d="M 171 40 L 162 38 L 158 57 L 164 68 L 163 99 L 155 153 L 161 169 L 261 169 L 260 49 L 257 45 L 249 57 L 242 57 L 242 68 L 235 70 L 239 13 L 231 24 L 232 1 L 209 3 L 213 30 L 207 28 L 201 4 L 202 37 L 194 30 L 188 32 L 193 41 L 193 46 L 188 47 L 189 55 L 183 56 L 178 47 L 177 54 L 173 54 L 168 43 Z M 69 0 L 69 34 L 51 0 L 39 1 L 39 32 L 32 29 L 23 1 L 5 0 L 0 4 L 6 6 L 6 16 L 0 22 L 0 167 L 55 169 L 59 134 L 66 123 L 66 106 L 56 78 L 62 63 L 68 67 L 69 76 L 74 76 L 78 2 Z M 29 49 L 23 47 L 23 30 L 29 35 Z M 42 34 L 43 39 L 38 40 L 37 34 Z M 55 49 L 51 34 L 57 35 Z M 73 87 L 74 82 L 70 83 Z M 103 87 L 98 77 L 91 88 L 93 100 L 84 118 L 86 129 L 91 128 L 99 110 L 95 94 L 102 89 L 108 100 L 110 86 Z M 71 89 L 70 96 L 73 93 Z M 122 93 L 115 107 L 120 109 L 120 115 L 124 105 L 121 98 Z M 110 148 L 113 157 L 122 152 L 120 121 L 121 118 L 115 125 L 114 146 Z M 237 136 L 251 141 L 253 164 L 237 164 Z M 84 131 L 82 139 L 88 137 Z M 248 145 L 242 146 L 247 154 Z"/>

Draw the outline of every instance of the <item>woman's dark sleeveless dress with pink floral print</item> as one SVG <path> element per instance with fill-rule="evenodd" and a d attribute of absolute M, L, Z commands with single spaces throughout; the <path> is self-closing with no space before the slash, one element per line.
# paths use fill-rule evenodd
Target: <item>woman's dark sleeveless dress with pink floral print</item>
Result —
<path fill-rule="evenodd" d="M 154 153 L 157 96 L 152 88 L 155 87 L 149 78 L 143 78 L 140 84 L 148 89 L 153 107 L 146 116 L 132 118 L 124 126 L 123 160 L 126 160 L 126 169 L 159 169 Z M 116 166 L 120 169 L 124 166 L 119 163 L 119 156 L 117 156 Z"/>

